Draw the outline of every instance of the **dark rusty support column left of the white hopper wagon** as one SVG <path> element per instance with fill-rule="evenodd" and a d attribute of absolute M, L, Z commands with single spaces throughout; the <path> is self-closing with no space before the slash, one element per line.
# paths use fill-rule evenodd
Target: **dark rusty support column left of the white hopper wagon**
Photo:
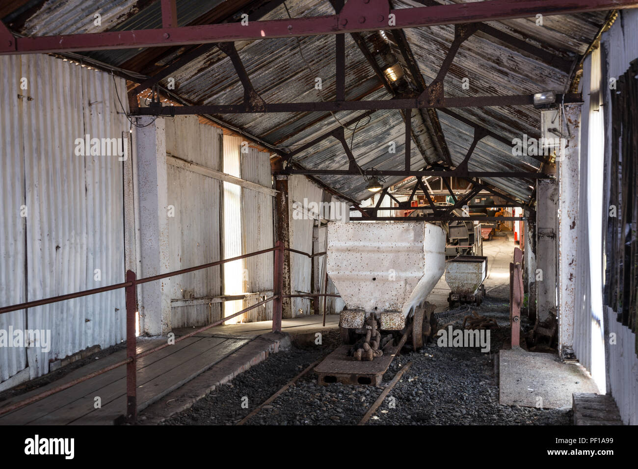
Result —
<path fill-rule="evenodd" d="M 281 162 L 275 169 L 281 170 Z M 288 175 L 275 175 L 275 230 L 276 241 L 283 242 L 284 248 L 290 248 L 290 205 L 288 202 Z M 290 251 L 283 251 L 283 287 L 282 293 L 290 295 Z M 281 315 L 292 318 L 292 299 L 281 301 Z"/>

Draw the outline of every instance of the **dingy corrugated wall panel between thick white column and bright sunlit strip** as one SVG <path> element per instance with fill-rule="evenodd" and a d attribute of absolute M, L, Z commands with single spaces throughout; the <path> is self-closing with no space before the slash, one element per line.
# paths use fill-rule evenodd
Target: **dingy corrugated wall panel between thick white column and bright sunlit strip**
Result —
<path fill-rule="evenodd" d="M 165 119 L 167 154 L 205 168 L 221 170 L 221 130 L 200 124 L 197 116 Z M 170 270 L 213 262 L 221 258 L 219 214 L 221 181 L 184 168 L 167 165 Z M 169 212 L 170 213 L 170 212 Z M 209 324 L 221 318 L 221 267 L 211 267 L 171 278 L 172 327 Z M 183 306 L 178 306 L 183 305 Z"/>

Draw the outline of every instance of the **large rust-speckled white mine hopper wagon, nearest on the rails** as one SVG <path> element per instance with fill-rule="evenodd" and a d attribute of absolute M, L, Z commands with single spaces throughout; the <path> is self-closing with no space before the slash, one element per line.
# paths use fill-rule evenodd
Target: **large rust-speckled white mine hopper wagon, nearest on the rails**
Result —
<path fill-rule="evenodd" d="M 426 298 L 444 271 L 445 232 L 431 223 L 328 225 L 327 272 L 346 305 L 339 320 L 345 344 L 371 327 L 387 337 L 412 325 L 413 348 L 420 348 L 436 321 Z"/>

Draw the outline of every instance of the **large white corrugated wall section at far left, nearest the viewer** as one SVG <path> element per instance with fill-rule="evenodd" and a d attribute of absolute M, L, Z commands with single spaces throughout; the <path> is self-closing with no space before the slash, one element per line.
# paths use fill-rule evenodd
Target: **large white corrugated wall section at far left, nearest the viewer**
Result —
<path fill-rule="evenodd" d="M 75 139 L 85 134 L 121 138 L 128 133 L 115 94 L 117 83 L 119 95 L 126 96 L 124 80 L 44 55 L 0 57 L 0 70 L 6 78 L 1 131 L 3 137 L 11 135 L 2 139 L 1 205 L 8 214 L 0 249 L 0 272 L 11 280 L 0 301 L 121 282 L 122 163 L 117 155 L 76 156 L 74 149 Z M 27 78 L 27 89 L 20 89 L 20 77 Z M 26 218 L 16 216 L 19 205 L 13 206 L 21 200 Z M 100 281 L 94 279 L 95 269 Z M 21 314 L 10 315 L 14 327 L 48 329 L 52 336 L 50 352 L 28 350 L 32 377 L 47 373 L 50 360 L 124 338 L 123 290 L 31 308 L 26 324 Z M 0 349 L 0 365 L 0 380 L 15 374 L 25 366 L 24 350 Z"/>

